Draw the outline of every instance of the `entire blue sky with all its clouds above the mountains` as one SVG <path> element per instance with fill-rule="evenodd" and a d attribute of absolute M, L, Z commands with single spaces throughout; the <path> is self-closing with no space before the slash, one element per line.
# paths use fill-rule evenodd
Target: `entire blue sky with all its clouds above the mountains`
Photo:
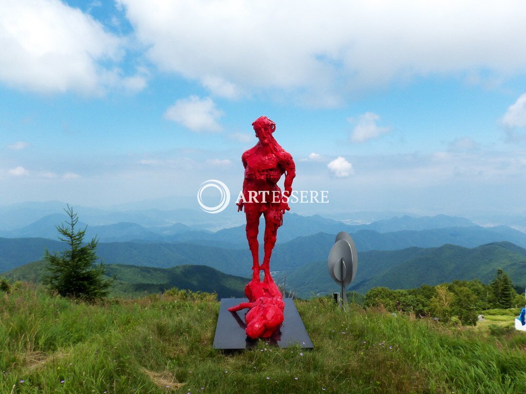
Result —
<path fill-rule="evenodd" d="M 0 205 L 155 208 L 207 179 L 237 194 L 266 115 L 295 188 L 329 191 L 298 212 L 522 214 L 525 16 L 520 1 L 5 0 Z"/>

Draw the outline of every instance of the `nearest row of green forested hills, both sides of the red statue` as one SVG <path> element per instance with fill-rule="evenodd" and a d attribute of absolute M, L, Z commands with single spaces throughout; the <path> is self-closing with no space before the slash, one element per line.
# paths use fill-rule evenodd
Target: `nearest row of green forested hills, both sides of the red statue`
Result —
<path fill-rule="evenodd" d="M 250 274 L 248 265 L 229 268 Z M 281 262 L 283 267 L 286 265 Z M 514 285 L 526 285 L 526 249 L 509 242 L 494 242 L 474 248 L 448 244 L 433 248 L 369 251 L 359 253 L 357 277 L 348 289 L 365 293 L 377 286 L 414 288 L 455 279 L 480 279 L 489 283 L 499 268 L 510 275 Z M 203 265 L 157 268 L 107 264 L 107 271 L 108 275 L 117 276 L 114 284 L 114 293 L 117 294 L 158 293 L 176 286 L 192 291 L 216 292 L 220 297 L 241 297 L 248 282 L 247 278 L 224 274 Z M 35 262 L 3 275 L 35 282 L 42 277 L 42 273 L 43 262 Z M 274 277 L 277 283 L 286 283 L 287 288 L 302 298 L 339 290 L 329 276 L 325 259 L 288 266 L 276 272 Z"/>

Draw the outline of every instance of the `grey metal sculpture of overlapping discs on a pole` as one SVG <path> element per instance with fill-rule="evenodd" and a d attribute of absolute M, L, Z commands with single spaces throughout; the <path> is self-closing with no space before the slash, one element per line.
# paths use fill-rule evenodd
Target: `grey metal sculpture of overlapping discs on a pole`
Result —
<path fill-rule="evenodd" d="M 341 286 L 341 298 L 347 303 L 345 288 L 350 285 L 356 276 L 358 268 L 358 252 L 356 245 L 349 234 L 341 231 L 336 236 L 327 262 L 329 274 Z"/>

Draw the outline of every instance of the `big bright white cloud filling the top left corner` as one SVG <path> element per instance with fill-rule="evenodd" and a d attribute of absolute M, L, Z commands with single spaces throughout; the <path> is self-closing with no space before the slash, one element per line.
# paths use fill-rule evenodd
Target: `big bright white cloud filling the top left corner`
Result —
<path fill-rule="evenodd" d="M 124 46 L 92 16 L 59 0 L 0 2 L 0 81 L 9 86 L 88 95 L 143 88 L 140 76 L 124 77 L 115 67 Z"/>

